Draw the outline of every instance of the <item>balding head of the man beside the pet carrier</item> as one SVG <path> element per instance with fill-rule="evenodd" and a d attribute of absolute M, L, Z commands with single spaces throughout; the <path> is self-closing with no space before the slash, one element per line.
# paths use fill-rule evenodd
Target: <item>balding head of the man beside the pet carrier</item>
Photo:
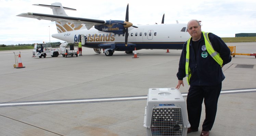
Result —
<path fill-rule="evenodd" d="M 188 22 L 188 32 L 190 36 L 192 37 L 193 41 L 197 41 L 201 38 L 201 25 L 199 21 L 192 19 Z"/>

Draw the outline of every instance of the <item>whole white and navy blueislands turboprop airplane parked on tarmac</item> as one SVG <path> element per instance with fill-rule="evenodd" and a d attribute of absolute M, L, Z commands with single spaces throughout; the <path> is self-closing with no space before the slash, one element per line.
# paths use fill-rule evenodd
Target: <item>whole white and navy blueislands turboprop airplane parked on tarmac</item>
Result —
<path fill-rule="evenodd" d="M 129 4 L 126 8 L 125 21 L 97 20 L 67 16 L 64 10 L 76 10 L 63 7 L 61 3 L 51 5 L 33 4 L 52 8 L 54 15 L 40 13 L 22 13 L 17 16 L 36 18 L 38 20 L 55 21 L 57 34 L 52 37 L 67 41 L 81 41 L 82 46 L 93 48 L 96 53 L 105 49 L 106 56 L 112 56 L 115 51 L 132 51 L 140 49 L 182 49 L 190 35 L 187 24 L 148 24 L 133 26 L 129 22 Z"/>

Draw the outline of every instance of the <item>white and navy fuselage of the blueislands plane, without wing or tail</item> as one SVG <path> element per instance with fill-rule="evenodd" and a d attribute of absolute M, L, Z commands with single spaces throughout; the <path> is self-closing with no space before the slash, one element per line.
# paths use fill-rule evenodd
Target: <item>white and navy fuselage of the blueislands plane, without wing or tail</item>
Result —
<path fill-rule="evenodd" d="M 66 31 L 53 34 L 52 37 L 67 42 L 77 42 L 80 35 L 85 35 L 88 48 L 106 49 L 115 44 L 116 51 L 131 51 L 140 49 L 182 49 L 183 44 L 190 37 L 185 32 L 187 24 L 151 24 L 130 27 L 128 30 L 128 46 L 125 46 L 125 35 L 98 31 L 95 28 Z"/>

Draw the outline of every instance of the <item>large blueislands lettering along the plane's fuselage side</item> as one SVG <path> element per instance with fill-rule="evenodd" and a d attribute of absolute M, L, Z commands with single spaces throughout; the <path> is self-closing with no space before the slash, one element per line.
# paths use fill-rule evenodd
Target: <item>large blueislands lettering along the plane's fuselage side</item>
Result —
<path fill-rule="evenodd" d="M 78 38 L 77 37 L 80 37 L 80 34 L 78 36 L 75 35 L 74 37 L 74 41 L 78 41 Z M 87 40 L 86 41 L 89 41 L 89 42 L 92 42 L 92 41 L 114 41 L 115 40 L 115 37 L 113 34 L 103 34 L 103 35 L 98 35 L 98 34 L 89 34 L 88 37 L 87 37 Z"/>

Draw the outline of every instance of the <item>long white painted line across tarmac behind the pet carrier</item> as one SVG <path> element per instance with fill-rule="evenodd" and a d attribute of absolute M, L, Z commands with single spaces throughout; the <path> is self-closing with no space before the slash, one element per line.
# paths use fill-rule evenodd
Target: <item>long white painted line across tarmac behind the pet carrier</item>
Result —
<path fill-rule="evenodd" d="M 237 94 L 245 92 L 256 92 L 256 89 L 243 90 L 223 90 L 220 94 Z M 187 97 L 187 93 L 182 93 L 183 97 Z M 9 106 L 33 106 L 33 105 L 51 105 L 51 104 L 74 104 L 74 103 L 95 103 L 95 102 L 115 102 L 115 101 L 131 101 L 131 100 L 146 100 L 148 96 L 130 96 L 116 98 L 99 98 L 99 99 L 77 99 L 77 100 L 55 100 L 55 101 L 34 101 L 34 102 L 18 102 L 18 103 L 2 103 L 0 107 Z"/>

